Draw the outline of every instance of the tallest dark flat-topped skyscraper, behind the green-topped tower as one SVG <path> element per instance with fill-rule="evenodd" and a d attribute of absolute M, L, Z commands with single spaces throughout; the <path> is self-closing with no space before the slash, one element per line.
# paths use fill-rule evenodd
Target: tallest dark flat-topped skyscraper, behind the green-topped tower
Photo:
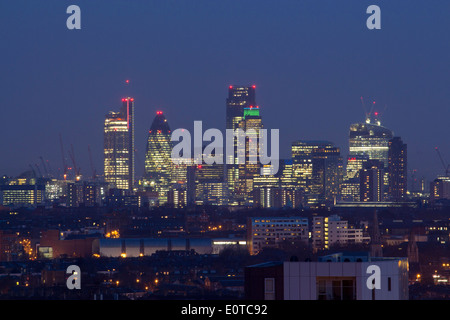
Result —
<path fill-rule="evenodd" d="M 230 86 L 226 100 L 226 129 L 236 130 L 244 119 L 244 109 L 256 106 L 255 86 Z M 237 165 L 237 141 L 234 142 L 233 156 L 226 159 L 226 180 L 230 190 L 230 196 L 239 194 L 239 168 Z M 234 164 L 231 164 L 234 163 Z M 231 201 L 231 204 L 234 202 Z M 236 202 L 237 203 L 237 202 Z"/>

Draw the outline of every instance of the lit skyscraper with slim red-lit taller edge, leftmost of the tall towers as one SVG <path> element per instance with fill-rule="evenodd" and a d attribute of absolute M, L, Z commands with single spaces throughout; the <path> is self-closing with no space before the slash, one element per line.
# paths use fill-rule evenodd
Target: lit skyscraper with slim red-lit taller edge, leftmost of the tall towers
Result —
<path fill-rule="evenodd" d="M 104 126 L 105 181 L 118 189 L 134 187 L 134 99 L 122 99 L 120 112 L 109 112 Z"/>

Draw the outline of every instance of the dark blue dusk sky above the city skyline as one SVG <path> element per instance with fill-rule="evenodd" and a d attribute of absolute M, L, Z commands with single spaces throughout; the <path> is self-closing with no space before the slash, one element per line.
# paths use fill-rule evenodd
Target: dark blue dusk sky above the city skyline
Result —
<path fill-rule="evenodd" d="M 81 30 L 66 28 L 71 4 Z M 366 28 L 371 4 L 381 30 Z M 82 172 L 88 145 L 101 171 L 104 115 L 126 93 L 141 174 L 157 110 L 172 129 L 223 129 L 228 85 L 255 84 L 282 157 L 298 139 L 330 140 L 346 155 L 363 96 L 387 106 L 382 123 L 408 144 L 409 168 L 432 179 L 443 172 L 435 146 L 450 162 L 449 31 L 446 0 L 1 1 L 0 174 L 40 156 L 61 168 L 59 133 Z"/>

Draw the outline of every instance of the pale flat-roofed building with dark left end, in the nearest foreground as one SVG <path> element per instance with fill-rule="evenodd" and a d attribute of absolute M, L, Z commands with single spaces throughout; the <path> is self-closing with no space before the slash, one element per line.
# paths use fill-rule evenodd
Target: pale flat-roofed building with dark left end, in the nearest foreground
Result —
<path fill-rule="evenodd" d="M 246 300 L 408 300 L 408 260 L 339 254 L 317 262 L 269 262 L 245 268 Z M 344 262 L 345 261 L 345 262 Z M 371 283 L 379 270 L 378 285 Z"/>

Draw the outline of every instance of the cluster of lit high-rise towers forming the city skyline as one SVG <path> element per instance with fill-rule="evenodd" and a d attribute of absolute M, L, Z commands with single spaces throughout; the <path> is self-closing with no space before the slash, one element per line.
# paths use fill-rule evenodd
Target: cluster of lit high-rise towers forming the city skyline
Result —
<path fill-rule="evenodd" d="M 255 86 L 229 86 L 226 129 L 263 128 L 256 104 Z M 340 149 L 329 141 L 295 141 L 292 158 L 279 160 L 279 170 L 249 162 L 259 145 L 237 148 L 226 164 L 194 165 L 173 161 L 171 129 L 162 111 L 151 124 L 142 179 L 135 177 L 134 99 L 122 99 L 120 112 L 110 112 L 104 127 L 104 178 L 114 188 L 147 190 L 158 194 L 159 204 L 260 205 L 270 207 L 300 203 L 328 205 L 341 201 L 403 201 L 406 198 L 406 144 L 380 125 L 378 113 L 367 114 L 364 123 L 352 124 L 346 170 Z M 245 162 L 237 163 L 238 150 Z M 224 155 L 221 155 L 224 157 Z M 228 155 L 227 157 L 231 157 Z M 233 161 L 234 160 L 234 161 Z M 261 170 L 269 174 L 261 175 Z"/>

